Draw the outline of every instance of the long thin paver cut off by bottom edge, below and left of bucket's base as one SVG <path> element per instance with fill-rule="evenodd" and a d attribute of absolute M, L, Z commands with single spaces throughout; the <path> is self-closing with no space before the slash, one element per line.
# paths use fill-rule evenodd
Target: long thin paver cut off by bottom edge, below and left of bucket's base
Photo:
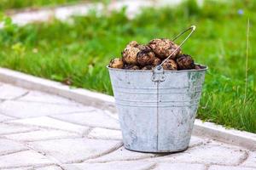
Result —
<path fill-rule="evenodd" d="M 73 165 L 63 165 L 67 170 L 150 170 L 154 167 L 152 162 L 133 162 L 133 161 L 117 161 L 110 163 L 79 163 Z"/>

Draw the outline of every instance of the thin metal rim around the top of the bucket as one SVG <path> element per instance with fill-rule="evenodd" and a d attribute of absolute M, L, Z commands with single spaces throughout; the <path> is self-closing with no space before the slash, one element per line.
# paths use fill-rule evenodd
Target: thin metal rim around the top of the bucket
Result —
<path fill-rule="evenodd" d="M 195 63 L 195 65 L 201 65 L 201 64 L 197 64 Z M 181 71 L 169 71 L 169 70 L 165 70 L 166 72 L 186 72 L 186 71 L 207 71 L 208 70 L 208 66 L 207 65 L 201 65 L 204 68 L 200 69 L 200 70 L 181 70 Z M 131 72 L 152 72 L 152 70 L 127 70 L 127 69 L 116 69 L 116 68 L 111 68 L 108 65 L 106 66 L 108 68 L 108 70 L 112 70 L 112 71 L 131 71 Z"/>

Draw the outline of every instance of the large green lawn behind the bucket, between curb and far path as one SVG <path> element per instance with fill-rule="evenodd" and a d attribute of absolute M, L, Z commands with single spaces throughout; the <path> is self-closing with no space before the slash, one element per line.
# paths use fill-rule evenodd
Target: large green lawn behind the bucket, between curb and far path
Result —
<path fill-rule="evenodd" d="M 256 4 L 248 2 L 145 8 L 134 20 L 126 18 L 125 9 L 108 16 L 91 12 L 75 17 L 73 24 L 55 20 L 20 28 L 5 19 L 6 27 L 0 31 L 0 65 L 113 94 L 105 66 L 120 56 L 127 42 L 172 38 L 193 24 L 197 30 L 183 52 L 209 66 L 198 117 L 256 133 Z M 243 14 L 238 14 L 239 9 Z M 244 100 L 248 16 L 251 32 Z"/>

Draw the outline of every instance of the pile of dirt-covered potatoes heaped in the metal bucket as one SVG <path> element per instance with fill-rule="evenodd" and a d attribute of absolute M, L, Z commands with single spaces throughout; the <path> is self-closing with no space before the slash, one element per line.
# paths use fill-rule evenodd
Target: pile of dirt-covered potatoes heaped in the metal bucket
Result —
<path fill-rule="evenodd" d="M 201 65 L 195 65 L 190 55 L 183 54 L 177 44 L 166 38 L 153 39 L 147 45 L 131 41 L 121 54 L 122 58 L 111 59 L 108 66 L 125 70 L 152 70 L 171 55 L 162 65 L 165 70 L 201 69 Z"/>

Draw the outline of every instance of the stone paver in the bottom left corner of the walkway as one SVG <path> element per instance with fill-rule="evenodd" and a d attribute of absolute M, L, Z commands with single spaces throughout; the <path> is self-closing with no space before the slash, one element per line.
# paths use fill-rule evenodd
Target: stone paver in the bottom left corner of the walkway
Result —
<path fill-rule="evenodd" d="M 42 166 L 53 163 L 46 156 L 32 150 L 0 156 L 0 168 Z"/>

